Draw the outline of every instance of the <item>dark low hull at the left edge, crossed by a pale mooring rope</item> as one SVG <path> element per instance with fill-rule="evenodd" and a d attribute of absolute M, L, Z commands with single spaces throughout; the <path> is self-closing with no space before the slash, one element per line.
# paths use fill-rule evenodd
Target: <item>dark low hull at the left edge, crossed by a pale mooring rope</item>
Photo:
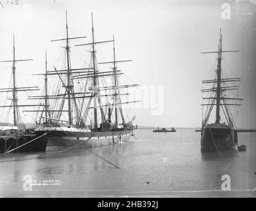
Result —
<path fill-rule="evenodd" d="M 0 136 L 0 153 L 5 153 L 10 150 L 12 152 L 44 152 L 47 146 L 47 140 L 33 140 L 36 135 L 12 135 L 12 136 Z M 32 142 L 30 142 L 33 140 Z M 28 143 L 30 142 L 30 143 Z M 26 144 L 28 143 L 28 144 Z M 24 146 L 22 146 L 25 144 Z"/>

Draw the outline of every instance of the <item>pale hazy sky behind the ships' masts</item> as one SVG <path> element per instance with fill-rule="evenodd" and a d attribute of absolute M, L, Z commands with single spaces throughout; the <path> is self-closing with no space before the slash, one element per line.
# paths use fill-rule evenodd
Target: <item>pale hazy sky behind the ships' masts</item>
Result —
<path fill-rule="evenodd" d="M 224 63 L 228 76 L 243 78 L 239 94 L 245 101 L 239 109 L 237 126 L 256 127 L 255 62 L 251 59 L 251 71 L 247 71 L 246 60 L 248 13 L 255 11 L 253 1 L 19 0 L 18 5 L 0 2 L 3 5 L 0 5 L 0 60 L 12 59 L 15 31 L 17 59 L 34 59 L 17 65 L 18 82 L 30 86 L 42 84 L 42 77 L 31 74 L 44 71 L 45 49 L 48 49 L 49 67 L 63 51 L 60 44 L 50 40 L 64 38 L 65 10 L 71 37 L 91 37 L 93 12 L 95 38 L 110 40 L 114 34 L 117 59 L 132 59 L 132 63 L 120 65 L 128 78 L 141 84 L 142 89 L 155 88 L 156 92 L 161 92 L 163 87 L 163 101 L 161 95 L 157 96 L 157 107 L 152 107 L 150 99 L 142 95 L 142 107 L 134 109 L 138 125 L 200 127 L 201 80 L 212 77 L 216 67 L 216 55 L 201 55 L 200 52 L 217 49 L 221 27 L 224 49 L 239 50 L 239 53 L 225 55 Z M 229 20 L 222 18 L 224 3 L 230 4 Z M 256 19 L 255 15 L 252 19 Z M 72 44 L 90 42 L 89 38 Z M 79 57 L 83 50 L 73 52 Z M 251 58 L 254 57 L 255 32 L 252 32 Z M 108 58 L 111 57 L 107 51 L 103 51 L 100 59 Z M 79 67 L 79 59 L 72 62 L 73 67 Z M 1 63 L 0 69 L 0 86 L 8 87 L 11 64 Z M 161 107 L 163 112 L 157 113 Z"/>

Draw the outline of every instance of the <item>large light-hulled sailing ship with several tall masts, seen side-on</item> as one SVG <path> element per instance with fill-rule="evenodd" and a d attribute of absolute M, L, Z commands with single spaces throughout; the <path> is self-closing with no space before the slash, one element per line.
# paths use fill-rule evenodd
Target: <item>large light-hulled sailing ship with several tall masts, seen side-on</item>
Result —
<path fill-rule="evenodd" d="M 54 67 L 52 71 L 47 68 L 44 74 L 44 94 L 31 96 L 30 99 L 44 101 L 40 119 L 37 121 L 34 132 L 40 139 L 48 142 L 48 146 L 101 146 L 116 142 L 126 142 L 133 135 L 135 117 L 129 120 L 124 116 L 123 105 L 136 103 L 121 98 L 128 96 L 125 90 L 138 84 L 120 84 L 122 75 L 117 67 L 118 63 L 131 60 L 116 60 L 114 36 L 112 40 L 95 41 L 95 32 L 92 18 L 92 40 L 87 44 L 75 46 L 91 47 L 89 49 L 89 65 L 82 68 L 71 68 L 71 40 L 84 39 L 85 36 L 69 38 L 67 26 L 67 13 L 65 14 L 65 38 L 52 40 L 64 42 L 65 60 L 62 69 Z M 112 43 L 112 61 L 97 61 L 96 46 Z M 88 50 L 88 49 L 87 49 Z M 105 65 L 105 66 L 104 66 Z M 106 65 L 111 65 L 108 71 L 101 71 Z M 51 76 L 57 76 L 56 85 L 52 94 L 49 92 L 48 81 Z M 47 106 L 48 105 L 48 106 Z M 65 109 L 66 108 L 66 109 Z M 48 133 L 50 131 L 50 133 Z"/>

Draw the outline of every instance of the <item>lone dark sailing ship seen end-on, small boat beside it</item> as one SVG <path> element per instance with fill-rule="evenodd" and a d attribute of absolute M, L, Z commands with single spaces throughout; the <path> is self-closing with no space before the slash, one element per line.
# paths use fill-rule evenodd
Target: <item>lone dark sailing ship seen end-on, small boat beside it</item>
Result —
<path fill-rule="evenodd" d="M 228 150 L 234 148 L 237 143 L 237 131 L 234 122 L 238 112 L 237 107 L 241 105 L 238 102 L 243 99 L 237 98 L 237 95 L 232 95 L 232 92 L 234 92 L 232 90 L 239 89 L 237 82 L 241 81 L 241 78 L 226 78 L 222 76 L 223 53 L 230 52 L 237 51 L 224 51 L 222 49 L 221 29 L 218 51 L 203 52 L 217 53 L 218 57 L 215 78 L 202 80 L 203 85 L 211 85 L 210 88 L 203 88 L 201 90 L 203 100 L 202 109 L 204 111 L 200 140 L 202 151 Z M 204 94 L 207 94 L 207 96 L 204 96 Z M 214 111 L 215 121 L 208 123 Z"/>

